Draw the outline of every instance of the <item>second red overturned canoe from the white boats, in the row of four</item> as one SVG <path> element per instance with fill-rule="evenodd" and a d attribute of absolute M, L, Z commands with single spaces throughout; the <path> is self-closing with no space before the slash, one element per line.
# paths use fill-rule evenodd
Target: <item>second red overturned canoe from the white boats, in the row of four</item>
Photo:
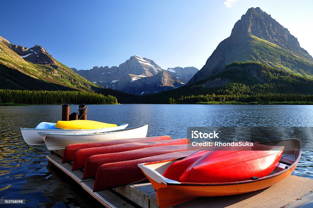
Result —
<path fill-rule="evenodd" d="M 172 139 L 163 141 L 139 141 L 119 145 L 81 149 L 76 151 L 74 154 L 72 170 L 74 171 L 80 168 L 84 168 L 87 159 L 93 155 L 108 154 L 114 152 L 125 152 L 152 146 L 181 145 L 187 143 L 188 139 Z"/>

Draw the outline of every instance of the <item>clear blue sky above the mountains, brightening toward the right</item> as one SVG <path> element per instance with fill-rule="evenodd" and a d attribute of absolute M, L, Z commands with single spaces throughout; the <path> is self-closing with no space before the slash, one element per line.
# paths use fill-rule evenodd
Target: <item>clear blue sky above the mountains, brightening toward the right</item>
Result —
<path fill-rule="evenodd" d="M 162 68 L 203 67 L 250 7 L 271 14 L 313 55 L 313 1 L 3 1 L 0 36 L 38 44 L 68 67 L 118 66 L 133 55 Z"/>

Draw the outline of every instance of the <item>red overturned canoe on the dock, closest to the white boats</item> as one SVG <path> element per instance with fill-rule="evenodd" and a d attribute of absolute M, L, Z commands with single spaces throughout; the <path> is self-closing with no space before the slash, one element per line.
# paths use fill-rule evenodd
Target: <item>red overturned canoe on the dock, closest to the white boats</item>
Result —
<path fill-rule="evenodd" d="M 153 137 L 144 137 L 144 138 L 136 138 L 136 139 L 116 139 L 116 140 L 110 140 L 110 141 L 70 144 L 66 146 L 64 150 L 62 163 L 73 161 L 75 152 L 81 149 L 99 147 L 99 146 L 111 146 L 111 145 L 118 145 L 118 144 L 138 142 L 138 141 L 161 141 L 161 140 L 170 140 L 170 139 L 171 139 L 170 136 L 153 136 Z"/>

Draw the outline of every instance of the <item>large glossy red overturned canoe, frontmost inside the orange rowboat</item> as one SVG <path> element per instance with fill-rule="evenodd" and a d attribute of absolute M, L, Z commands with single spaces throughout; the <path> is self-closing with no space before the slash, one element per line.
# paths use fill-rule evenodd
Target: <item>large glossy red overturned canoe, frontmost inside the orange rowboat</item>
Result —
<path fill-rule="evenodd" d="M 190 165 L 180 181 L 217 183 L 262 178 L 275 169 L 284 148 L 256 143 L 253 147 L 218 147 Z"/>

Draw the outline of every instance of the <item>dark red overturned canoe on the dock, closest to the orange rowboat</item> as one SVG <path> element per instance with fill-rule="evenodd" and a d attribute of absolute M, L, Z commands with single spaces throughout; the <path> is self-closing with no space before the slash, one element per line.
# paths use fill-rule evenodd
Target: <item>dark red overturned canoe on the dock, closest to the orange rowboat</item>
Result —
<path fill-rule="evenodd" d="M 143 182 L 146 176 L 137 164 L 187 157 L 195 151 L 172 152 L 163 155 L 145 157 L 137 160 L 103 164 L 98 168 L 93 191 L 123 186 L 135 182 Z M 147 179 L 146 179 L 147 180 Z"/>

